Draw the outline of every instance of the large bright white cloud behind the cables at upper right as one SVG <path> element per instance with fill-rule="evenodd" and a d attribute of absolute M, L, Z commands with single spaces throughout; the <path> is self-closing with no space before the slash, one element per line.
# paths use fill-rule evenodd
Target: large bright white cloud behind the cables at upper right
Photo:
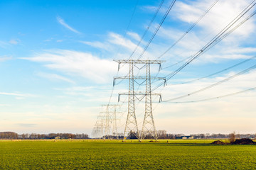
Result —
<path fill-rule="evenodd" d="M 191 23 L 196 22 L 211 4 L 213 4 L 213 1 L 177 1 L 172 17 L 176 16 L 178 21 L 188 23 L 187 28 L 189 28 Z M 232 21 L 232 19 L 235 18 L 247 4 L 249 4 L 249 1 L 245 0 L 235 2 L 227 0 L 218 1 L 196 27 L 186 34 L 186 36 L 161 59 L 165 58 L 167 62 L 174 63 L 196 54 L 196 52 L 201 50 L 201 48 L 219 33 L 220 30 L 225 28 L 225 26 Z M 253 18 L 250 18 L 249 21 L 245 22 L 237 30 L 228 35 L 227 38 L 223 39 L 215 45 L 215 47 L 191 64 L 220 62 L 222 61 L 221 59 L 237 60 L 251 57 L 253 54 L 250 53 L 255 52 L 255 49 L 248 46 L 254 44 L 254 28 L 255 21 Z M 161 44 L 161 47 L 160 45 L 157 46 L 157 44 L 153 44 L 151 45 L 151 51 L 149 52 L 153 52 L 154 55 L 157 54 L 157 52 L 153 51 L 154 49 L 157 49 L 161 53 L 164 52 L 176 42 L 183 33 L 185 33 L 183 32 L 184 30 L 181 31 L 176 30 L 175 28 L 170 28 L 169 26 L 162 26 L 158 33 L 158 37 L 161 38 L 158 44 Z M 247 44 L 247 47 L 245 47 L 245 43 Z"/>

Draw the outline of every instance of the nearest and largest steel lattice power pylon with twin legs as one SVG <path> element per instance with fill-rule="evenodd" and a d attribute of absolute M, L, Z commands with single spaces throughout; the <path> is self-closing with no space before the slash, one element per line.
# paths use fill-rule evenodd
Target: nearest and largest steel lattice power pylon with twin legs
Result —
<path fill-rule="evenodd" d="M 154 118 L 152 113 L 152 101 L 151 96 L 152 95 L 158 95 L 160 96 L 161 100 L 161 94 L 152 93 L 151 92 L 151 79 L 157 79 L 157 80 L 164 80 L 166 82 L 166 79 L 163 77 L 151 77 L 150 75 L 150 64 L 159 64 L 159 69 L 161 69 L 161 63 L 164 61 L 161 60 L 114 60 L 115 62 L 118 62 L 118 64 L 129 64 L 129 76 L 127 77 L 114 77 L 115 79 L 129 79 L 129 92 L 128 93 L 119 93 L 120 95 L 128 95 L 128 113 L 127 113 L 127 121 L 124 128 L 124 138 L 128 135 L 130 132 L 134 133 L 134 135 L 141 141 L 144 139 L 144 137 L 147 134 L 151 134 L 155 140 L 157 140 L 156 135 L 156 127 L 154 124 Z M 134 76 L 134 66 L 136 64 L 144 64 L 146 65 L 146 76 Z M 119 68 L 119 67 L 118 67 Z M 146 81 L 146 90 L 145 92 L 135 92 L 134 91 L 134 80 L 135 79 L 143 79 Z M 138 125 L 137 125 L 137 118 L 135 114 L 135 106 L 134 106 L 134 97 L 135 96 L 145 96 L 145 114 L 144 114 L 144 120 L 142 125 L 142 134 L 139 134 Z M 146 130 L 146 132 L 145 132 Z"/>

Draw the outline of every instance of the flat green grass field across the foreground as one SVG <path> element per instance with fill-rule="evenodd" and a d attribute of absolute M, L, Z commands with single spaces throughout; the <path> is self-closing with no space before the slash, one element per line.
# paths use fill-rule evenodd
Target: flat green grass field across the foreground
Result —
<path fill-rule="evenodd" d="M 0 169 L 256 169 L 256 145 L 213 140 L 1 140 Z"/>

